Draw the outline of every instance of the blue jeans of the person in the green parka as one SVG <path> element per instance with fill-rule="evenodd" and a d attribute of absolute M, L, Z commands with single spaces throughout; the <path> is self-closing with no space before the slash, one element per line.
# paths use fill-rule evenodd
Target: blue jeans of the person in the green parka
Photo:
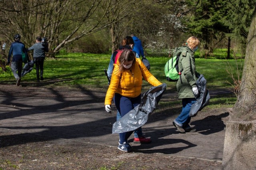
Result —
<path fill-rule="evenodd" d="M 182 111 L 180 115 L 174 119 L 174 122 L 179 125 L 180 127 L 188 128 L 191 120 L 189 116 L 189 111 L 192 106 L 196 102 L 196 98 L 184 98 L 182 99 Z"/>

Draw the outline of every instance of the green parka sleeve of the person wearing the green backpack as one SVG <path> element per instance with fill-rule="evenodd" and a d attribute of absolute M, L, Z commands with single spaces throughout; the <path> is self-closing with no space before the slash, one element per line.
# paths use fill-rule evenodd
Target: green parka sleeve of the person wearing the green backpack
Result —
<path fill-rule="evenodd" d="M 186 77 L 186 80 L 188 81 L 191 87 L 196 87 L 196 81 L 194 80 L 193 73 L 191 72 L 192 63 L 190 61 L 191 60 L 190 57 L 191 55 L 189 52 L 186 52 L 186 57 L 183 57 L 183 56 L 181 57 L 181 63 L 183 67 L 182 74 L 184 74 L 184 76 Z"/>

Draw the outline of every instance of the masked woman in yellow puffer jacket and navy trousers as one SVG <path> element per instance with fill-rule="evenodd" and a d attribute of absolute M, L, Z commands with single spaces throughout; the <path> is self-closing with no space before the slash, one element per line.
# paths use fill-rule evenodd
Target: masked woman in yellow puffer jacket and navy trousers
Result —
<path fill-rule="evenodd" d="M 110 112 L 111 102 L 114 98 L 116 108 L 123 117 L 130 110 L 134 109 L 141 101 L 142 77 L 152 86 L 159 86 L 159 82 L 146 68 L 140 59 L 136 59 L 130 50 L 124 50 L 114 64 L 110 86 L 105 98 L 105 109 Z M 118 149 L 128 152 L 131 147 L 128 138 L 133 131 L 119 133 Z"/>

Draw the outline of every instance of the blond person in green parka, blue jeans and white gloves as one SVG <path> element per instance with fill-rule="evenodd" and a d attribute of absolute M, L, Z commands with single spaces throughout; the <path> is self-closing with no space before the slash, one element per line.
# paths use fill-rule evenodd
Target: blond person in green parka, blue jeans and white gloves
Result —
<path fill-rule="evenodd" d="M 178 98 L 182 99 L 182 111 L 172 123 L 180 133 L 196 132 L 196 129 L 192 129 L 189 125 L 191 120 L 189 112 L 198 95 L 196 80 L 200 74 L 196 72 L 194 53 L 199 44 L 198 38 L 192 36 L 182 47 L 178 47 L 174 51 L 174 56 L 180 55 L 178 67 L 179 70 L 182 70 L 176 84 Z"/>

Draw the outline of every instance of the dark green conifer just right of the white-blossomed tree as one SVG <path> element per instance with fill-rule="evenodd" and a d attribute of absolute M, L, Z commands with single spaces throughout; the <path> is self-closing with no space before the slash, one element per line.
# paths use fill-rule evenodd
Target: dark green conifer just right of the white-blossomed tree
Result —
<path fill-rule="evenodd" d="M 187 0 L 190 13 L 187 22 L 192 35 L 200 38 L 205 51 L 205 58 L 211 53 L 216 45 L 225 38 L 227 27 L 221 20 L 224 15 L 223 0 Z"/>

